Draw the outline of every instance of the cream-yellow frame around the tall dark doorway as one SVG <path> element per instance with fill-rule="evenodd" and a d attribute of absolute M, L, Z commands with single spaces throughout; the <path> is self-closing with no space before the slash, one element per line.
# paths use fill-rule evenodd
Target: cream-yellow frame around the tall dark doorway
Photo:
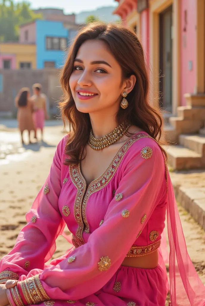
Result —
<path fill-rule="evenodd" d="M 160 13 L 173 6 L 172 15 L 172 114 L 176 114 L 180 105 L 180 4 L 181 0 L 153 0 L 149 2 L 150 19 L 150 63 L 153 80 L 151 98 L 155 106 L 159 105 L 159 60 L 160 60 Z"/>

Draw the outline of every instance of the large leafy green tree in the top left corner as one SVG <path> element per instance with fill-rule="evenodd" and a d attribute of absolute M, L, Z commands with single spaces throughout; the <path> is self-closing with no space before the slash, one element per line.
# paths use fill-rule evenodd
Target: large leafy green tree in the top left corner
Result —
<path fill-rule="evenodd" d="M 41 18 L 41 14 L 34 14 L 29 2 L 0 0 L 0 41 L 17 41 L 21 24 Z"/>

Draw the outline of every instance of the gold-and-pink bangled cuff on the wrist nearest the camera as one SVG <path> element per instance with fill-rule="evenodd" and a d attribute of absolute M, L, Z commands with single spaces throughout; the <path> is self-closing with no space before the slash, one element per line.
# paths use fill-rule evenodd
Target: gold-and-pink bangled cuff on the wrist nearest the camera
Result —
<path fill-rule="evenodd" d="M 27 278 L 9 289 L 16 306 L 40 304 L 51 300 L 43 289 L 39 276 L 40 274 Z"/>

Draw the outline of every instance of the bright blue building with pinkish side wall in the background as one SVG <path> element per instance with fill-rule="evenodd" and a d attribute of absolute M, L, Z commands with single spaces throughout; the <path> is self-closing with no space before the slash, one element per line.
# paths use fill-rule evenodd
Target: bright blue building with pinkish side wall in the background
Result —
<path fill-rule="evenodd" d="M 63 21 L 36 20 L 20 27 L 20 42 L 36 44 L 36 68 L 60 68 L 66 59 L 66 49 L 76 33 Z"/>

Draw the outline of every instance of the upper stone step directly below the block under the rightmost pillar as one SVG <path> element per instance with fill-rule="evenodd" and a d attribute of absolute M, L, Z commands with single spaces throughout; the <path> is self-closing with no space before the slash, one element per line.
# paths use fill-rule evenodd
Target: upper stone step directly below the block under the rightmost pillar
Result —
<path fill-rule="evenodd" d="M 205 107 L 178 106 L 178 117 L 189 120 L 204 120 Z"/>

